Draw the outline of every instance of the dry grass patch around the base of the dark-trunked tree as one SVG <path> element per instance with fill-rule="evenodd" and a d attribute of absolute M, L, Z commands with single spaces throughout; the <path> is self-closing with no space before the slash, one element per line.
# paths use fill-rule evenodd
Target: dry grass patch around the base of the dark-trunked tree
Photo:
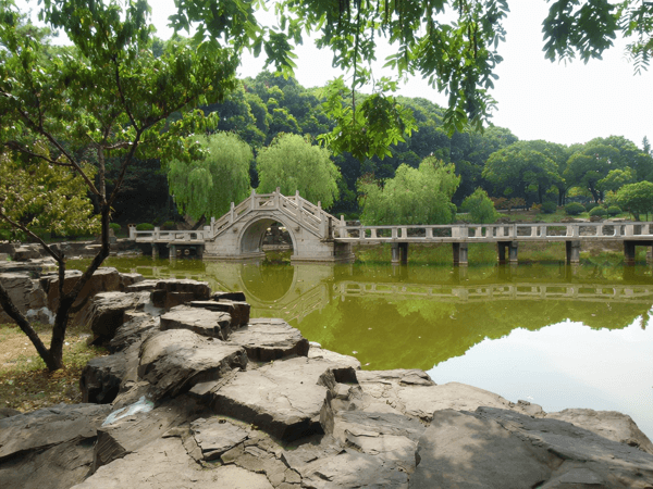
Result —
<path fill-rule="evenodd" d="M 48 346 L 51 326 L 37 324 L 35 329 Z M 89 336 L 69 330 L 63 347 L 64 367 L 49 372 L 17 326 L 0 325 L 0 406 L 28 412 L 62 402 L 82 402 L 82 371 L 89 360 L 108 354 L 103 348 L 87 346 Z"/>

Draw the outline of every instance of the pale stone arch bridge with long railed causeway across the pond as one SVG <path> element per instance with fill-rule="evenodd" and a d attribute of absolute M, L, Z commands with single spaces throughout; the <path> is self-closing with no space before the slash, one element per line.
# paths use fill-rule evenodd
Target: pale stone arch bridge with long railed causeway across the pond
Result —
<path fill-rule="evenodd" d="M 653 222 L 597 223 L 525 223 L 525 224 L 453 224 L 453 225 L 347 225 L 344 217 L 325 212 L 320 202 L 313 204 L 297 192 L 284 196 L 251 195 L 222 217 L 211 217 L 210 225 L 198 230 L 150 231 L 130 229 L 136 242 L 151 243 L 152 253 L 170 249 L 170 256 L 195 250 L 209 260 L 251 260 L 264 256 L 263 238 L 272 224 L 280 223 L 292 241 L 293 263 L 349 262 L 354 243 L 392 246 L 392 262 L 406 263 L 410 243 L 451 243 L 454 264 L 468 264 L 468 247 L 475 242 L 495 242 L 500 263 L 518 262 L 519 242 L 555 242 L 566 244 L 567 263 L 580 261 L 583 242 L 613 241 L 624 246 L 626 263 L 634 263 L 636 247 L 651 247 Z"/>

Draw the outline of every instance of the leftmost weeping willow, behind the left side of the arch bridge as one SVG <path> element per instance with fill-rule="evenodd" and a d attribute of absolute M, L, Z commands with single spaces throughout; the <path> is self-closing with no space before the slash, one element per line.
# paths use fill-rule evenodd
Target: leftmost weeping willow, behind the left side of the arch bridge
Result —
<path fill-rule="evenodd" d="M 198 161 L 168 162 L 170 193 L 180 210 L 194 220 L 219 217 L 231 202 L 241 202 L 249 193 L 251 148 L 232 133 L 200 136 L 206 156 Z"/>

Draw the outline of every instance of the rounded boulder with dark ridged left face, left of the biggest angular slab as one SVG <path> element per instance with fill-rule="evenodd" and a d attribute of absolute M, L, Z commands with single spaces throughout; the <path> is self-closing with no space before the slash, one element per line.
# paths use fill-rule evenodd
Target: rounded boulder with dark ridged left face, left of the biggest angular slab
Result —
<path fill-rule="evenodd" d="M 247 354 L 237 344 L 206 338 L 188 329 L 157 333 L 140 347 L 138 376 L 152 386 L 152 400 L 175 397 L 200 383 L 244 369 Z"/>

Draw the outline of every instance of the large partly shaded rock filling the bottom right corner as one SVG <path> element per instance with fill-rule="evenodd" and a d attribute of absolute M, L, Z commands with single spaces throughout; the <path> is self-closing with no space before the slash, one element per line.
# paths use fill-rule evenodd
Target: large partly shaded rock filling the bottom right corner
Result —
<path fill-rule="evenodd" d="M 479 408 L 438 411 L 411 488 L 651 487 L 653 456 L 558 419 Z M 465 469 L 463 469 L 465 468 Z"/>

